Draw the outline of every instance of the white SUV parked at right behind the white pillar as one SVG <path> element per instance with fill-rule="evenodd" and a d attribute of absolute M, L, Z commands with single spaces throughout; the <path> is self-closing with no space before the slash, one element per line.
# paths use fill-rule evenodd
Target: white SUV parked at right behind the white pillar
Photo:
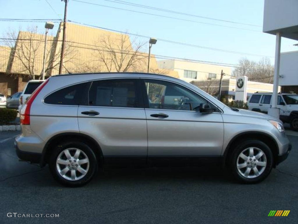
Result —
<path fill-rule="evenodd" d="M 251 111 L 268 112 L 271 108 L 272 93 L 256 92 L 250 96 L 247 102 L 248 109 Z M 277 108 L 280 108 L 280 119 L 291 125 L 298 131 L 298 95 L 281 93 L 277 96 Z"/>

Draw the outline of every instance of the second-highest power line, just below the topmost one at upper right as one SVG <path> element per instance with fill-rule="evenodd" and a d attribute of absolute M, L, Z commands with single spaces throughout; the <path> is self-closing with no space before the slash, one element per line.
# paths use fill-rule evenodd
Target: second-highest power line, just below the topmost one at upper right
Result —
<path fill-rule="evenodd" d="M 252 29 L 246 29 L 246 28 L 240 28 L 240 27 L 231 27 L 231 26 L 219 25 L 219 24 L 214 24 L 214 23 L 199 22 L 199 21 L 195 21 L 195 20 L 181 19 L 181 18 L 176 18 L 176 17 L 171 17 L 171 16 L 162 16 L 162 15 L 158 15 L 158 14 L 145 13 L 145 12 L 140 12 L 140 11 L 136 11 L 136 10 L 129 10 L 129 9 L 123 9 L 123 8 L 118 8 L 118 7 L 112 7 L 112 6 L 102 5 L 102 4 L 91 3 L 91 2 L 87 2 L 87 1 L 79 1 L 79 0 L 72 0 L 72 1 L 77 1 L 77 2 L 81 2 L 81 3 L 85 3 L 85 4 L 97 5 L 97 6 L 102 6 L 102 7 L 112 8 L 112 9 L 124 10 L 124 11 L 129 11 L 129 12 L 134 12 L 134 13 L 141 13 L 141 14 L 146 14 L 146 15 L 150 15 L 150 16 L 159 16 L 159 17 L 168 18 L 168 19 L 176 19 L 176 20 L 187 21 L 187 22 L 195 22 L 195 23 L 200 23 L 200 24 L 205 24 L 205 25 L 212 25 L 212 26 L 227 27 L 227 28 L 232 28 L 232 29 L 261 32 L 260 30 L 252 30 Z"/>

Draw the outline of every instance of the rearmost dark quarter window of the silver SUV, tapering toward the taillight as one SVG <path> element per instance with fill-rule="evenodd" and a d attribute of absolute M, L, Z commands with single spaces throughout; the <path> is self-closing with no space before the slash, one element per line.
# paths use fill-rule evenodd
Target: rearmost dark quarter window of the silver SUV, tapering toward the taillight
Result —
<path fill-rule="evenodd" d="M 58 105 L 87 105 L 90 83 L 81 83 L 60 89 L 44 99 L 45 103 Z"/>

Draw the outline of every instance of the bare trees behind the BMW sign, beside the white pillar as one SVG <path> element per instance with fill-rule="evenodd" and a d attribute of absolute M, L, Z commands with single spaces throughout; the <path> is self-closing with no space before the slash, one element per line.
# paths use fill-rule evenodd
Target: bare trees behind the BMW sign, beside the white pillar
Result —
<path fill-rule="evenodd" d="M 268 58 L 262 58 L 259 62 L 243 58 L 239 61 L 239 67 L 233 71 L 234 76 L 247 76 L 250 81 L 273 83 L 274 67 Z"/>

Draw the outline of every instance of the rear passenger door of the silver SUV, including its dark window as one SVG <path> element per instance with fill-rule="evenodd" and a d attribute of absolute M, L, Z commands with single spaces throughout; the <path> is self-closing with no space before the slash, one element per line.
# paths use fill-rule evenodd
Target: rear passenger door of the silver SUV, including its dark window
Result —
<path fill-rule="evenodd" d="M 147 125 L 140 79 L 93 81 L 87 105 L 78 108 L 80 133 L 97 140 L 105 162 L 147 157 Z"/>

